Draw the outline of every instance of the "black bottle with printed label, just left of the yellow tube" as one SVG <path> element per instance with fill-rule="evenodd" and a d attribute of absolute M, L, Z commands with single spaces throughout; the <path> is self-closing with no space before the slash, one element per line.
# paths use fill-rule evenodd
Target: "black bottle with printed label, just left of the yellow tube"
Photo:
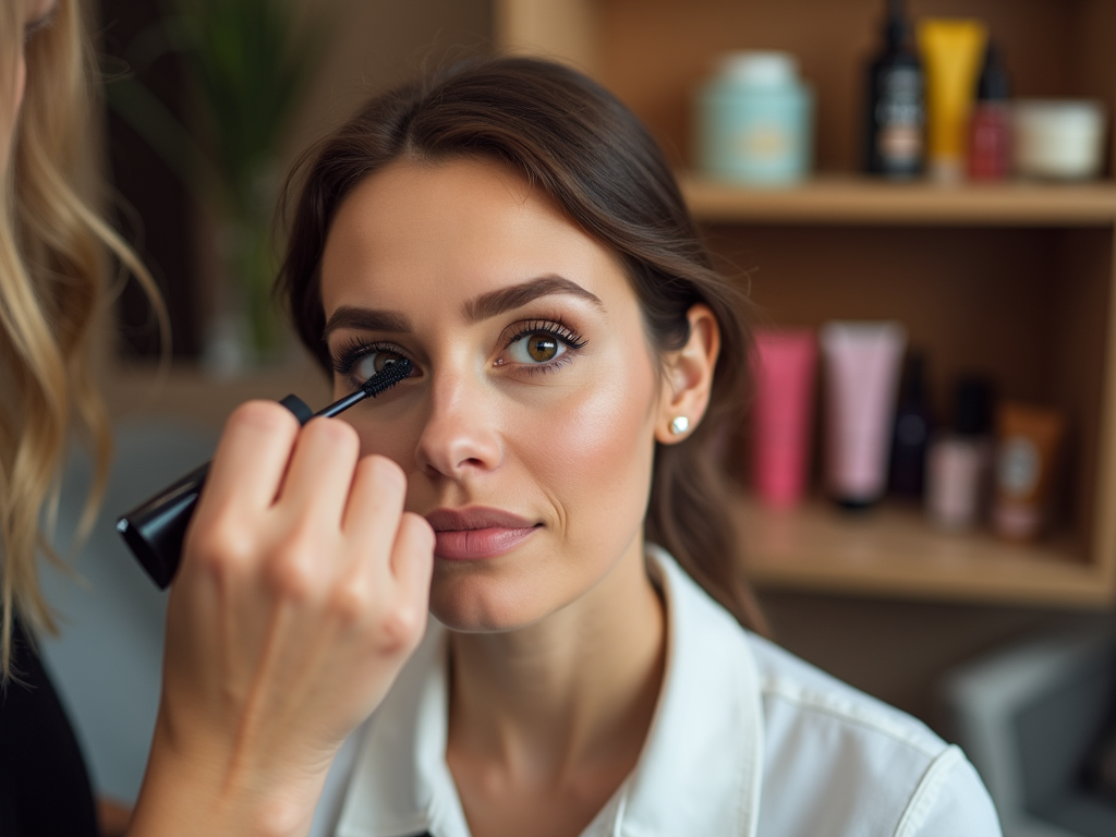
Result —
<path fill-rule="evenodd" d="M 868 65 L 864 171 L 913 177 L 925 158 L 925 84 L 903 0 L 888 0 L 884 49 Z"/>

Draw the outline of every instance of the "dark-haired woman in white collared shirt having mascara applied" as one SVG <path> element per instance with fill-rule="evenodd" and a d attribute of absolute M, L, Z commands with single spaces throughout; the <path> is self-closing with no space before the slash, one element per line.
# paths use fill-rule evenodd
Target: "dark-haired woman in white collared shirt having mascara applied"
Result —
<path fill-rule="evenodd" d="M 613 96 L 462 65 L 374 98 L 304 181 L 280 288 L 337 395 L 414 364 L 346 417 L 436 537 L 436 623 L 324 833 L 999 833 L 956 748 L 749 632 L 714 466 L 742 304 Z"/>

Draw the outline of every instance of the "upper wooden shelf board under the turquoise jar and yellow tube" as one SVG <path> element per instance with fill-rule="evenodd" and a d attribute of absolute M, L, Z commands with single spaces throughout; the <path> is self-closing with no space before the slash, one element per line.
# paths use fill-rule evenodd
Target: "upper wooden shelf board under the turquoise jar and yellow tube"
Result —
<path fill-rule="evenodd" d="M 703 223 L 945 224 L 1110 227 L 1116 184 L 1008 182 L 940 185 L 824 175 L 801 185 L 758 189 L 691 173 L 683 194 Z"/>

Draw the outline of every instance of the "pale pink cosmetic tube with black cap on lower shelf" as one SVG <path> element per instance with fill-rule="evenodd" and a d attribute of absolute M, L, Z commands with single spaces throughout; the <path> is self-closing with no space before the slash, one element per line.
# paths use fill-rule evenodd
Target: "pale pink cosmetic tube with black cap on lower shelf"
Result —
<path fill-rule="evenodd" d="M 848 509 L 884 493 L 906 331 L 898 323 L 830 321 L 821 327 L 826 375 L 826 481 Z"/>

